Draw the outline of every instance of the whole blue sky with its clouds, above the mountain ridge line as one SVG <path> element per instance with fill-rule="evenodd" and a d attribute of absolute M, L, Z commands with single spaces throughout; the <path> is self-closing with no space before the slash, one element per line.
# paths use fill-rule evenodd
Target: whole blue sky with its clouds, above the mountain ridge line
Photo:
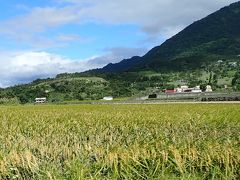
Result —
<path fill-rule="evenodd" d="M 236 1 L 0 2 L 0 87 L 6 87 L 141 56 L 193 21 Z"/>

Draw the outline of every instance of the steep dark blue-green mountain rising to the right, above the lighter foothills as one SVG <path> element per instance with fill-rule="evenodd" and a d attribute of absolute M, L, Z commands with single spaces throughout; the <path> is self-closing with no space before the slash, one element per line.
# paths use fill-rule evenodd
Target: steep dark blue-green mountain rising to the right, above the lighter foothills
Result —
<path fill-rule="evenodd" d="M 240 2 L 186 27 L 143 57 L 108 64 L 98 72 L 185 70 L 240 54 Z"/>

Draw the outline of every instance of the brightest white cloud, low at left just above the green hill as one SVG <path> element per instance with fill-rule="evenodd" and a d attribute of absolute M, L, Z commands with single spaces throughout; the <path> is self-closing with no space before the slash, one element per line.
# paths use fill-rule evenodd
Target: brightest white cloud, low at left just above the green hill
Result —
<path fill-rule="evenodd" d="M 4 87 L 29 82 L 35 78 L 52 77 L 65 71 L 72 72 L 74 68 L 79 71 L 85 69 L 84 63 L 76 63 L 46 52 L 9 53 L 1 57 L 0 82 Z"/>

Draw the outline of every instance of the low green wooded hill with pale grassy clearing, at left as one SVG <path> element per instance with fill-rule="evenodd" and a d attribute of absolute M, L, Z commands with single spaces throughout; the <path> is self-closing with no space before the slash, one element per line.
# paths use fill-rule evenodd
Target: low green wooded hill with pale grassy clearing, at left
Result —
<path fill-rule="evenodd" d="M 38 79 L 29 84 L 0 89 L 0 104 L 34 102 L 36 97 L 47 97 L 48 102 L 99 100 L 105 96 L 132 95 L 128 81 L 113 76 L 84 76 L 81 73 L 59 74 L 55 78 Z"/>

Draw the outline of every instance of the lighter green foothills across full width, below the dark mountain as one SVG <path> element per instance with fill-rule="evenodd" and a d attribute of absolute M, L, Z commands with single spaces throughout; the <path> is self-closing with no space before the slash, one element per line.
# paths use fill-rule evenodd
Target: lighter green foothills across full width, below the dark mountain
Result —
<path fill-rule="evenodd" d="M 0 89 L 0 104 L 32 103 L 36 97 L 47 97 L 49 102 L 99 100 L 105 96 L 141 97 L 180 85 L 200 85 L 204 89 L 207 84 L 214 91 L 240 90 L 240 58 L 184 72 L 64 73 Z"/>

